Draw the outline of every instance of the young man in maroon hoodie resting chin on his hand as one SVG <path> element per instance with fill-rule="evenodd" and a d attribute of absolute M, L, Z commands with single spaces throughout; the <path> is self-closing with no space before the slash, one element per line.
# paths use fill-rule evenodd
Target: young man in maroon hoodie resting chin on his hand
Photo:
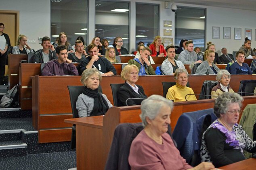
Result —
<path fill-rule="evenodd" d="M 46 63 L 42 70 L 42 76 L 78 76 L 78 70 L 71 60 L 67 59 L 67 47 L 59 45 L 56 47 L 58 59 Z"/>

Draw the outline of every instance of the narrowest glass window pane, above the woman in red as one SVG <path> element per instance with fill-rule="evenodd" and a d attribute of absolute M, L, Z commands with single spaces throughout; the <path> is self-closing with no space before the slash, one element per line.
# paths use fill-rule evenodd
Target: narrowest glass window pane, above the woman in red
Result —
<path fill-rule="evenodd" d="M 136 3 L 136 45 L 139 41 L 152 43 L 158 35 L 158 8 L 159 5 Z"/>

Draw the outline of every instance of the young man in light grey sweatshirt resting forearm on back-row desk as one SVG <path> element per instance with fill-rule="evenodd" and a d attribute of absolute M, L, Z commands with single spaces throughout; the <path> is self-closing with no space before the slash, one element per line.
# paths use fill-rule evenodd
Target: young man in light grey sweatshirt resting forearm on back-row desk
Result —
<path fill-rule="evenodd" d="M 187 41 L 185 50 L 180 52 L 178 56 L 178 60 L 181 61 L 183 64 L 191 64 L 191 63 L 201 63 L 201 60 L 197 61 L 197 54 L 193 51 L 194 45 L 193 41 Z"/>

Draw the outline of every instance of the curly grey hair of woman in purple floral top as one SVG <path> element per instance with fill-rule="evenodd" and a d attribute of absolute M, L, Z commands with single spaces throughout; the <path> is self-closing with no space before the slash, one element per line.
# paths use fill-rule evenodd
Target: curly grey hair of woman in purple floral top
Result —
<path fill-rule="evenodd" d="M 243 98 L 237 93 L 224 92 L 216 98 L 214 102 L 214 113 L 217 117 L 220 114 L 226 114 L 227 108 L 231 103 L 238 103 L 239 107 L 242 107 Z"/>

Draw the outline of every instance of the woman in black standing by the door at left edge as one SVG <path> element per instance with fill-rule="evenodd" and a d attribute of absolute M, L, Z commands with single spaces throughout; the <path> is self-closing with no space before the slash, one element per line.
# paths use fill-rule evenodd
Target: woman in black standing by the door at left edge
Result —
<path fill-rule="evenodd" d="M 5 62 L 7 58 L 7 51 L 10 47 L 10 39 L 4 33 L 4 24 L 0 23 L 0 84 L 4 84 Z"/>

